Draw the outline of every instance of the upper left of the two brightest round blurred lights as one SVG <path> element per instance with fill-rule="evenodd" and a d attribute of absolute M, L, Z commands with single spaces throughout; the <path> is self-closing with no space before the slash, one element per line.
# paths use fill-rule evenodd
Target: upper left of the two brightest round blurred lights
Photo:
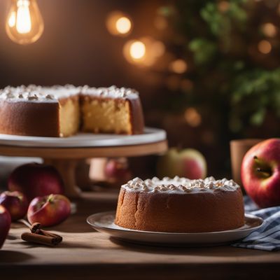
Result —
<path fill-rule="evenodd" d="M 119 10 L 109 13 L 106 27 L 112 35 L 127 36 L 132 31 L 132 20 Z"/>

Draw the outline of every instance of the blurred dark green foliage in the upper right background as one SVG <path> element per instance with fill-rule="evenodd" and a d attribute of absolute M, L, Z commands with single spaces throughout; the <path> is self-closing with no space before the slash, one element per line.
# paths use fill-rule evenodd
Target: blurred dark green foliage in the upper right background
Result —
<path fill-rule="evenodd" d="M 188 105 L 207 104 L 221 114 L 229 132 L 239 135 L 262 125 L 267 114 L 280 118 L 280 57 L 276 50 L 263 55 L 257 48 L 264 39 L 260 26 L 267 13 L 279 18 L 276 9 L 265 14 L 265 3 L 250 0 L 179 0 L 174 5 L 175 26 L 186 38 L 184 56 L 194 64 L 186 73 L 195 84 Z M 278 37 L 274 46 L 280 48 Z"/>

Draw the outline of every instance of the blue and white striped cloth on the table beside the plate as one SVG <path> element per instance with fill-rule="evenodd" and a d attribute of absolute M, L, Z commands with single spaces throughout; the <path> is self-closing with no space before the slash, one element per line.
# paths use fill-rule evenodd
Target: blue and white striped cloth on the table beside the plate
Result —
<path fill-rule="evenodd" d="M 232 246 L 265 251 L 280 250 L 280 207 L 258 209 L 249 197 L 244 197 L 244 205 L 246 213 L 259 216 L 265 223 Z"/>

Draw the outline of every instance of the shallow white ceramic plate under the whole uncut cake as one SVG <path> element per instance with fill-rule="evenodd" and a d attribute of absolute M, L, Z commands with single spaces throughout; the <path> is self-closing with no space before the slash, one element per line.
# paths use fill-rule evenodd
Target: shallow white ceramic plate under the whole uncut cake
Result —
<path fill-rule="evenodd" d="M 245 225 L 223 232 L 176 233 L 130 230 L 115 225 L 115 211 L 97 213 L 87 218 L 92 228 L 113 238 L 138 244 L 155 246 L 213 246 L 243 239 L 263 224 L 262 218 L 245 214 Z"/>

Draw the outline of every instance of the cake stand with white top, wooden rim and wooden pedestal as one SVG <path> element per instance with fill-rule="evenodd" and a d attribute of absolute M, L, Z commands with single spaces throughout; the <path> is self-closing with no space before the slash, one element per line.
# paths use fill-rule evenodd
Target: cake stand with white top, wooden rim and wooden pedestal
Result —
<path fill-rule="evenodd" d="M 87 134 L 73 137 L 25 137 L 0 134 L 0 155 L 39 157 L 62 175 L 65 193 L 78 197 L 75 169 L 86 158 L 130 157 L 160 154 L 167 151 L 166 132 L 146 127 L 144 134 Z"/>

